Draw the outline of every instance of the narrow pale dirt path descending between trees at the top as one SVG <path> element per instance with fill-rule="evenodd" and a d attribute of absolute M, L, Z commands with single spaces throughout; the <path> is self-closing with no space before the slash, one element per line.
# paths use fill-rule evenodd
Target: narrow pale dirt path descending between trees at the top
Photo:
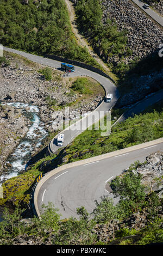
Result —
<path fill-rule="evenodd" d="M 98 55 L 93 51 L 92 47 L 89 45 L 89 43 L 86 41 L 86 39 L 82 35 L 79 34 L 77 24 L 76 24 L 76 15 L 74 13 L 73 3 L 70 2 L 69 0 L 65 0 L 65 2 L 67 5 L 67 8 L 68 8 L 69 16 L 70 16 L 72 32 L 73 32 L 74 36 L 76 37 L 78 44 L 82 47 L 86 47 L 87 50 L 89 51 L 90 55 L 94 59 L 96 59 L 96 61 L 105 69 L 105 72 L 108 73 L 115 80 L 115 76 L 111 73 L 108 66 L 106 66 L 106 64 L 102 61 L 102 59 L 99 58 Z"/>

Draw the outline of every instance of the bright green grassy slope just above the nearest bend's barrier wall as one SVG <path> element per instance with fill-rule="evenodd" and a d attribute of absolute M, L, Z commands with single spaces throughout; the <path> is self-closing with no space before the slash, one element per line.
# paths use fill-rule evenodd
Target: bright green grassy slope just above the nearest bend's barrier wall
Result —
<path fill-rule="evenodd" d="M 163 111 L 135 115 L 112 127 L 109 137 L 101 136 L 104 131 L 93 125 L 93 130 L 84 131 L 59 157 L 65 164 L 161 138 L 162 122 Z"/>

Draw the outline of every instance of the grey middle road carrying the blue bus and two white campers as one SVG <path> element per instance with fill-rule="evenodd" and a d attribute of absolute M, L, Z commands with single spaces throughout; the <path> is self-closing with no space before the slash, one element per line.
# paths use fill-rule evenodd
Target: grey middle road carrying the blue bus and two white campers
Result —
<path fill-rule="evenodd" d="M 44 65 L 48 65 L 51 66 L 52 68 L 56 68 L 56 69 L 60 69 L 61 67 L 61 62 L 58 62 L 57 60 L 53 60 L 53 59 L 48 59 L 48 58 L 44 58 L 44 57 L 40 57 L 40 56 L 35 56 L 33 54 L 30 53 L 26 53 L 26 52 L 22 52 L 22 51 L 18 51 L 18 50 L 14 50 L 8 47 L 3 47 L 4 51 L 9 51 L 9 52 L 13 52 L 13 53 L 17 53 L 20 54 L 23 57 L 28 58 L 29 60 L 32 60 L 33 62 L 36 63 L 40 63 L 40 64 L 44 64 Z M 76 77 L 76 76 L 90 76 L 92 78 L 94 78 L 96 81 L 98 81 L 100 84 L 102 84 L 102 86 L 105 89 L 106 94 L 108 93 L 112 93 L 113 99 L 111 102 L 103 102 L 102 105 L 98 108 L 98 114 L 100 113 L 101 115 L 97 115 L 96 120 L 94 118 L 92 118 L 93 123 L 97 122 L 99 120 L 99 117 L 104 117 L 104 115 L 106 115 L 106 113 L 110 110 L 110 108 L 115 104 L 115 102 L 118 99 L 118 89 L 116 88 L 115 84 L 112 83 L 108 78 L 99 75 L 95 72 L 92 72 L 90 70 L 87 69 L 83 69 L 80 68 L 78 66 L 74 66 L 74 72 L 70 73 L 70 77 Z M 64 74 L 64 72 L 63 72 Z M 94 112 L 93 112 L 94 113 Z M 93 113 L 91 113 L 90 115 L 93 116 Z M 62 145 L 62 147 L 66 147 L 66 145 L 68 145 L 71 141 L 73 141 L 73 139 L 75 137 L 77 137 L 81 132 L 83 132 L 84 130 L 86 130 L 87 127 L 91 126 L 91 118 L 86 117 L 85 123 L 83 123 L 82 126 L 82 121 L 78 121 L 78 126 L 82 127 L 82 129 L 74 129 L 74 127 L 76 126 L 76 124 L 72 125 L 70 127 L 70 129 L 66 130 L 66 131 L 62 131 L 61 133 L 65 134 L 65 141 L 64 144 Z M 81 119 L 83 120 L 83 119 Z M 60 147 L 58 147 L 57 145 L 57 139 L 53 139 L 53 142 L 51 143 L 51 147 L 49 148 L 49 151 L 51 153 L 55 153 L 55 151 L 57 151 Z"/>

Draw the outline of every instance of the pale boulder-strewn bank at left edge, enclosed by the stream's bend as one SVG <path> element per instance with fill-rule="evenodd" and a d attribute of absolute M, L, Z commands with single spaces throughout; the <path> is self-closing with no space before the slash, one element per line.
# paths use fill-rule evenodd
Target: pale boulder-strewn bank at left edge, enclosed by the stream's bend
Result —
<path fill-rule="evenodd" d="M 20 139 L 28 131 L 27 120 L 21 111 L 9 106 L 0 106 L 0 174 L 8 166 L 5 160 L 14 150 Z"/>

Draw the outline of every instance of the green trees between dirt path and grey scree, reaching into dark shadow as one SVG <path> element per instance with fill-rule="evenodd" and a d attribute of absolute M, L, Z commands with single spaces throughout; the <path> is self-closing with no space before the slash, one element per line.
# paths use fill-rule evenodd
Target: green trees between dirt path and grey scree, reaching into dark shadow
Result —
<path fill-rule="evenodd" d="M 163 58 L 158 56 L 158 52 L 153 52 L 146 58 L 140 59 L 137 56 L 126 63 L 125 59 L 132 55 L 132 51 L 127 46 L 127 31 L 124 29 L 119 32 L 115 21 L 108 19 L 103 23 L 103 8 L 105 7 L 100 0 L 78 0 L 75 7 L 78 28 L 98 56 L 120 78 L 117 81 L 121 85 L 120 92 L 126 93 L 134 86 L 131 84 L 131 78 L 160 71 Z M 118 63 L 112 64 L 112 57 L 115 60 L 118 57 Z"/>

